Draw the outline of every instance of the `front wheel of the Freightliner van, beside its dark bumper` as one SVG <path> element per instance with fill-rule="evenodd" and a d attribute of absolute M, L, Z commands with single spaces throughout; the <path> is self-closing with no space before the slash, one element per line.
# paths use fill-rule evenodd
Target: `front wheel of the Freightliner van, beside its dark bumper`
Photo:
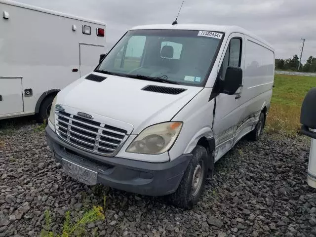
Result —
<path fill-rule="evenodd" d="M 207 175 L 207 151 L 202 146 L 196 146 L 177 191 L 169 196 L 169 200 L 179 207 L 192 208 L 197 204 L 202 194 Z"/>

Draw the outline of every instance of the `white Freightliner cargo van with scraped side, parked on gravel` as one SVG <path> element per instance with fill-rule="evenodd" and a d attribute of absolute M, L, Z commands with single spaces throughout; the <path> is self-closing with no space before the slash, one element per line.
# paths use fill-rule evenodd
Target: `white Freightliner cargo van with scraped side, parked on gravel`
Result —
<path fill-rule="evenodd" d="M 190 208 L 214 162 L 244 135 L 259 139 L 274 62 L 267 42 L 236 26 L 135 27 L 55 97 L 48 144 L 85 184 Z"/>

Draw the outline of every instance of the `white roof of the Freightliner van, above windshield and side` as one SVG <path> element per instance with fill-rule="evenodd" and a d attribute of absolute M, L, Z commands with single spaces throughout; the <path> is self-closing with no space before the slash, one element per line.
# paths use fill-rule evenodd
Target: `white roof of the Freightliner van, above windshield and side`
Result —
<path fill-rule="evenodd" d="M 255 40 L 258 40 L 266 44 L 266 46 L 269 46 L 271 49 L 273 49 L 272 45 L 268 43 L 266 40 L 263 40 L 260 37 L 238 26 L 208 25 L 208 24 L 176 24 L 176 25 L 157 24 L 157 25 L 136 26 L 136 27 L 133 27 L 131 30 L 200 30 L 200 31 L 219 31 L 219 32 L 224 32 L 228 35 L 231 33 L 241 33 Z"/>

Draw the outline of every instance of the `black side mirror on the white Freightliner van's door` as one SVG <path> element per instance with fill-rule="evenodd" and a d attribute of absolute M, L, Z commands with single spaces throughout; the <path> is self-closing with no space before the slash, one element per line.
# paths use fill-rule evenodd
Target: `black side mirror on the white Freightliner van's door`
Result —
<path fill-rule="evenodd" d="M 233 95 L 242 86 L 242 70 L 240 67 L 229 66 L 226 70 L 222 93 Z"/>

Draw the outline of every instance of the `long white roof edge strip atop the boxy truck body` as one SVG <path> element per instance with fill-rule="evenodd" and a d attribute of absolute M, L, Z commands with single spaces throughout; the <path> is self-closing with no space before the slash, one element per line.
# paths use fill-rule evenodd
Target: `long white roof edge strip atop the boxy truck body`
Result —
<path fill-rule="evenodd" d="M 34 10 L 34 11 L 40 11 L 40 12 L 44 12 L 44 13 L 48 13 L 48 14 L 52 14 L 52 15 L 56 15 L 56 16 L 62 16 L 62 17 L 66 17 L 66 18 L 76 19 L 76 20 L 79 20 L 79 21 L 85 21 L 85 22 L 89 22 L 89 23 L 94 23 L 94 24 L 105 26 L 105 23 L 101 22 L 101 21 L 90 20 L 90 19 L 87 19 L 87 18 L 73 16 L 73 15 L 65 14 L 65 13 L 58 12 L 58 11 L 52 11 L 52 10 L 48 10 L 48 9 L 45 9 L 45 8 L 32 6 L 32 5 L 28 5 L 28 4 L 24 4 L 24 3 L 20 3 L 20 2 L 16 2 L 16 1 L 0 0 L 0 3 L 7 4 L 7 5 L 12 5 L 12 6 L 18 6 L 18 7 L 22 7 L 22 8 L 26 8 L 26 9 L 31 9 L 31 10 Z"/>

